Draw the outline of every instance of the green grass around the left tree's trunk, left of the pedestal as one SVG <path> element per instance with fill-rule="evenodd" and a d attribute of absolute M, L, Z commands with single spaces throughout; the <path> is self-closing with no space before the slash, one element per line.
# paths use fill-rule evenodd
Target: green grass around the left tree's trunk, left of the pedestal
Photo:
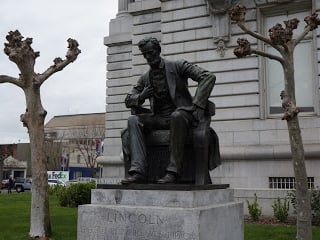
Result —
<path fill-rule="evenodd" d="M 0 239 L 29 240 L 30 192 L 0 194 Z M 77 239 L 77 208 L 59 207 L 50 197 L 52 240 Z"/>

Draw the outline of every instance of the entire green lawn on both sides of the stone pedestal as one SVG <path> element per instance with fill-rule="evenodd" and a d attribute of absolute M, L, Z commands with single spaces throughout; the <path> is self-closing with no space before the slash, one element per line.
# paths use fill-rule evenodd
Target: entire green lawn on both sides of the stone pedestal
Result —
<path fill-rule="evenodd" d="M 0 240 L 29 240 L 30 193 L 0 194 Z M 52 240 L 77 239 L 77 208 L 59 207 L 50 198 Z M 245 224 L 245 240 L 292 240 L 295 226 Z M 89 240 L 89 239 L 88 239 Z M 320 227 L 313 227 L 313 240 L 320 240 Z"/>

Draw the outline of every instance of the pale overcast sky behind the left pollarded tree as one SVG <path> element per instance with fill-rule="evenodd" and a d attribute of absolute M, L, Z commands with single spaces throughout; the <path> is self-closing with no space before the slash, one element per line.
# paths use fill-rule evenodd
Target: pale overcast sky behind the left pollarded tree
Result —
<path fill-rule="evenodd" d="M 18 77 L 16 65 L 3 48 L 9 31 L 19 30 L 33 38 L 40 52 L 35 71 L 44 72 L 54 58 L 65 58 L 67 39 L 79 42 L 81 54 L 63 71 L 52 75 L 41 87 L 42 104 L 48 115 L 105 111 L 106 46 L 109 21 L 115 18 L 118 0 L 1 0 L 0 75 Z M 0 144 L 29 142 L 20 122 L 25 112 L 24 94 L 12 84 L 0 84 Z"/>

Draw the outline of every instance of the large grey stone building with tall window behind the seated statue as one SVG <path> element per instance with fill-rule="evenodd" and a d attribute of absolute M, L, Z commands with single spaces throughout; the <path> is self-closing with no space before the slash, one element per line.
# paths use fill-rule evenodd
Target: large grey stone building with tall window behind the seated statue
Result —
<path fill-rule="evenodd" d="M 219 5 L 220 4 L 220 5 Z M 232 4 L 247 7 L 246 24 L 264 35 L 276 23 L 320 11 L 315 0 L 119 0 L 119 12 L 110 21 L 107 49 L 107 106 L 104 177 L 121 166 L 120 130 L 126 127 L 129 109 L 125 95 L 148 69 L 137 47 L 153 36 L 161 41 L 162 56 L 186 59 L 212 71 L 217 81 L 210 100 L 217 110 L 211 126 L 220 138 L 223 163 L 211 172 L 214 183 L 235 189 L 289 189 L 294 186 L 288 130 L 281 120 L 280 92 L 283 73 L 277 62 L 262 57 L 238 59 L 233 54 L 239 37 L 252 47 L 272 49 L 245 35 L 229 21 Z M 310 186 L 320 186 L 319 30 L 309 33 L 296 48 L 297 104 Z M 191 92 L 195 84 L 190 82 Z M 114 171 L 113 171 L 114 173 Z M 108 175 L 109 174 L 109 175 Z"/>

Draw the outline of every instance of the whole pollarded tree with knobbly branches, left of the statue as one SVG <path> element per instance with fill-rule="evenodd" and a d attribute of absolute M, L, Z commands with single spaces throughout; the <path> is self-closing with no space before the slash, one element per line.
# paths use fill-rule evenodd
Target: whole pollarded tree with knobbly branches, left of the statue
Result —
<path fill-rule="evenodd" d="M 17 65 L 20 74 L 19 77 L 0 75 L 0 83 L 10 83 L 21 88 L 26 99 L 26 112 L 20 116 L 20 120 L 28 128 L 31 148 L 33 181 L 29 235 L 32 238 L 47 239 L 51 235 L 44 139 L 44 119 L 47 112 L 41 103 L 40 87 L 51 75 L 75 61 L 81 51 L 77 41 L 69 38 L 66 58 L 55 58 L 54 64 L 39 74 L 34 72 L 39 52 L 32 49 L 32 38 L 24 39 L 16 30 L 10 31 L 6 39 L 8 42 L 4 44 L 4 52 Z"/>

